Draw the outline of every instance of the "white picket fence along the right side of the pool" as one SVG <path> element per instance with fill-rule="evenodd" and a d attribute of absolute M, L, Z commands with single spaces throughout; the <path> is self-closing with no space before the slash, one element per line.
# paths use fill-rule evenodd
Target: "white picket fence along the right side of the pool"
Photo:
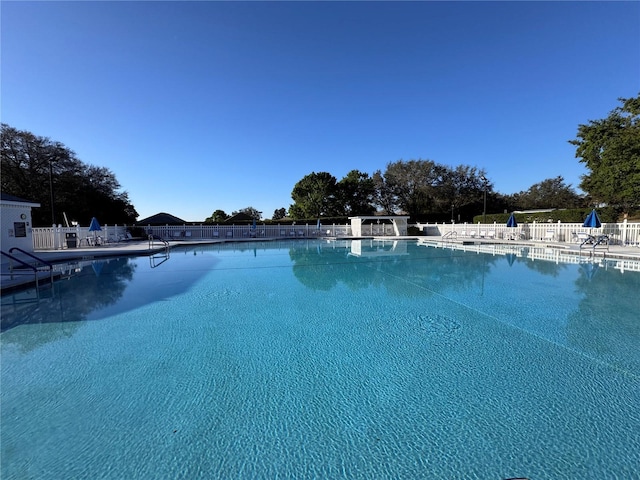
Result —
<path fill-rule="evenodd" d="M 608 235 L 615 245 L 640 247 L 640 222 L 603 223 L 600 228 L 587 228 L 582 223 L 522 223 L 507 227 L 502 223 L 419 223 L 416 224 L 427 235 L 453 235 L 465 238 L 517 238 L 554 243 L 579 243 L 579 233 Z"/>

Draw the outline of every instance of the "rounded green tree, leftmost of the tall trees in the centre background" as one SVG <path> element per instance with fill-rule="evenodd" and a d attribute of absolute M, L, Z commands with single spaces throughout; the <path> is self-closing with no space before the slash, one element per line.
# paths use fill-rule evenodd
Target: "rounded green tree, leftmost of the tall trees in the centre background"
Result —
<path fill-rule="evenodd" d="M 289 215 L 294 219 L 320 218 L 336 214 L 336 177 L 327 172 L 312 172 L 293 187 L 294 203 Z"/>

